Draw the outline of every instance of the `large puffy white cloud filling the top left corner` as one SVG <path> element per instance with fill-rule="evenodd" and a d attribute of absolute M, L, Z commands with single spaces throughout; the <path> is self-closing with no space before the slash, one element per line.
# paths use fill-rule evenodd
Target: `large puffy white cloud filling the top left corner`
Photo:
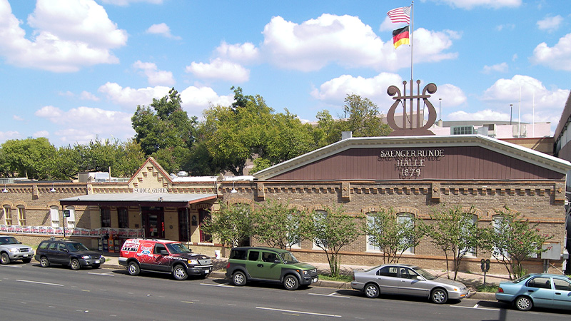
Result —
<path fill-rule="evenodd" d="M 39 0 L 28 24 L 33 39 L 0 0 L 0 55 L 15 66 L 74 72 L 99 63 L 118 63 L 111 49 L 124 46 L 126 31 L 117 29 L 102 6 L 92 0 Z"/>

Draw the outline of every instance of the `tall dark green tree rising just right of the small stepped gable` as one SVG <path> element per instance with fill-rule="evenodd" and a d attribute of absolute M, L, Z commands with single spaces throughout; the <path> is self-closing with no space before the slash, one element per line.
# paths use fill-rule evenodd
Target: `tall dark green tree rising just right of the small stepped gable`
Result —
<path fill-rule="evenodd" d="M 145 156 L 153 156 L 170 171 L 186 170 L 183 165 L 196 138 L 197 118 L 188 118 L 181 103 L 181 95 L 172 88 L 167 96 L 153 98 L 151 106 L 137 106 L 131 118 Z"/>

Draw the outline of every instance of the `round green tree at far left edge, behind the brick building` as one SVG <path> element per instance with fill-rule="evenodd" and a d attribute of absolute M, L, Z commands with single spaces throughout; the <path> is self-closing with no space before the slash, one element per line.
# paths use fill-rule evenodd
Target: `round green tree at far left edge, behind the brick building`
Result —
<path fill-rule="evenodd" d="M 51 178 L 56 163 L 56 148 L 48 138 L 9 140 L 1 145 L 0 159 L 6 177 L 24 177 L 36 180 Z"/>

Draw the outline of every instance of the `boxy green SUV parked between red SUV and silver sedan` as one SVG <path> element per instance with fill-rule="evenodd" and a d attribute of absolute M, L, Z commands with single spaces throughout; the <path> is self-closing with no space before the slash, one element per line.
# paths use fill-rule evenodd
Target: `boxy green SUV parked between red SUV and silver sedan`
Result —
<path fill-rule="evenodd" d="M 290 251 L 278 248 L 233 248 L 230 251 L 226 277 L 236 286 L 250 281 L 280 282 L 287 290 L 318 281 L 317 268 L 300 263 Z"/>

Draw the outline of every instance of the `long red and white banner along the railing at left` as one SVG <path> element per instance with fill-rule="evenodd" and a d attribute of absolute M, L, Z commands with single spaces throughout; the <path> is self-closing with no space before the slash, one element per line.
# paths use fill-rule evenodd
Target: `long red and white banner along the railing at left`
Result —
<path fill-rule="evenodd" d="M 20 226 L 0 225 L 0 233 L 16 233 L 31 235 L 56 235 L 64 236 L 64 228 L 51 226 Z M 66 228 L 66 236 L 78 236 L 86 238 L 101 238 L 108 234 L 111 238 L 143 238 L 141 228 Z"/>

